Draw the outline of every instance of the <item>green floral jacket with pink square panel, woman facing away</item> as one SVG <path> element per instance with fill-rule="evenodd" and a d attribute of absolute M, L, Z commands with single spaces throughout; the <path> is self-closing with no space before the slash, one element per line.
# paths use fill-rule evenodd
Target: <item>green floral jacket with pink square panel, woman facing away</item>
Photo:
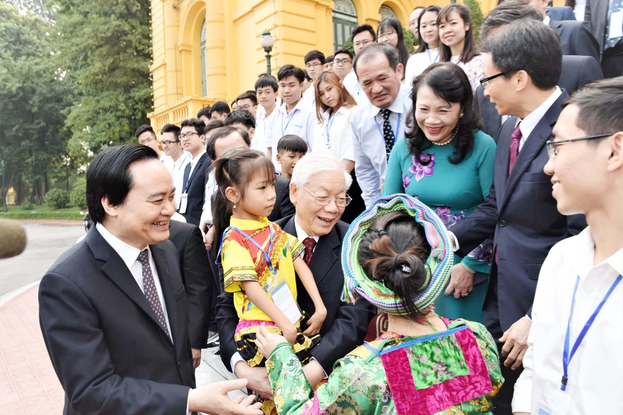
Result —
<path fill-rule="evenodd" d="M 484 326 L 443 319 L 447 330 L 384 333 L 338 360 L 327 383 L 309 386 L 287 343 L 266 367 L 280 415 L 492 414 L 503 383 L 498 351 Z"/>

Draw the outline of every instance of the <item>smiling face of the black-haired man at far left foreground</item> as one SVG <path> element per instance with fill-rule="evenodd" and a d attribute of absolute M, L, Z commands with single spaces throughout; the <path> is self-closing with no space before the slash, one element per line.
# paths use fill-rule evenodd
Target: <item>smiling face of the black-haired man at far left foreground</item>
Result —
<path fill-rule="evenodd" d="M 102 199 L 107 215 L 102 224 L 125 243 L 143 249 L 169 238 L 175 188 L 171 174 L 157 159 L 132 163 L 128 173 L 132 187 L 125 202 L 111 206 Z"/>

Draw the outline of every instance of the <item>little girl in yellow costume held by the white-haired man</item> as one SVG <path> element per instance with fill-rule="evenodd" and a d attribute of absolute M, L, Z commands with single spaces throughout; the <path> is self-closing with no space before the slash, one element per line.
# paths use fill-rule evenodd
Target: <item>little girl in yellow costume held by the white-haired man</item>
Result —
<path fill-rule="evenodd" d="M 215 235 L 222 235 L 219 256 L 224 288 L 234 293 L 240 319 L 235 332 L 237 349 L 249 366 L 264 365 L 265 358 L 255 347 L 255 333 L 265 323 L 272 333 L 282 334 L 306 363 L 320 342 L 318 333 L 327 309 L 303 261 L 302 243 L 267 219 L 276 199 L 273 163 L 260 151 L 235 149 L 216 160 L 214 169 L 219 186 L 213 208 Z M 316 308 L 303 329 L 295 272 Z"/>

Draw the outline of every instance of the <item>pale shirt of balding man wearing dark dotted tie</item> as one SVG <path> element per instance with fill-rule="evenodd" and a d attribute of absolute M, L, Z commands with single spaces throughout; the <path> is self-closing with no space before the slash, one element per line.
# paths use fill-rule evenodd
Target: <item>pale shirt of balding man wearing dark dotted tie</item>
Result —
<path fill-rule="evenodd" d="M 408 89 L 401 86 L 398 96 L 388 107 L 392 111 L 389 121 L 396 140 L 404 137 L 404 123 L 412 107 Z M 366 208 L 381 196 L 381 186 L 387 172 L 387 148 L 381 133 L 383 116 L 380 111 L 372 104 L 358 106 L 350 118 L 355 173 Z"/>

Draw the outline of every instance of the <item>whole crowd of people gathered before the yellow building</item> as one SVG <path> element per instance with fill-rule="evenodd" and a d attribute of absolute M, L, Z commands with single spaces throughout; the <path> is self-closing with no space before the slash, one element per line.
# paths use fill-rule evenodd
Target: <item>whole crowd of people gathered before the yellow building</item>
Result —
<path fill-rule="evenodd" d="M 64 413 L 623 413 L 623 11 L 547 3 L 355 26 L 100 152 L 39 288 Z"/>

